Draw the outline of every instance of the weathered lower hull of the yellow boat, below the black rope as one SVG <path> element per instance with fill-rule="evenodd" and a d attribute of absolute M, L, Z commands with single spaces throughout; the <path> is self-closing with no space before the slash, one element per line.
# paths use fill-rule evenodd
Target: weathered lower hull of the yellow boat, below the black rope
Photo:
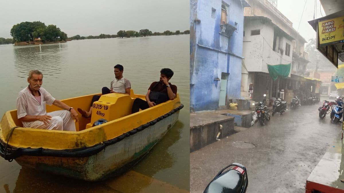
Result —
<path fill-rule="evenodd" d="M 15 158 L 15 161 L 22 167 L 86 181 L 114 177 L 126 172 L 142 159 L 178 121 L 178 116 L 179 111 L 176 111 L 154 125 L 107 146 L 93 156 L 82 158 L 20 156 Z"/>

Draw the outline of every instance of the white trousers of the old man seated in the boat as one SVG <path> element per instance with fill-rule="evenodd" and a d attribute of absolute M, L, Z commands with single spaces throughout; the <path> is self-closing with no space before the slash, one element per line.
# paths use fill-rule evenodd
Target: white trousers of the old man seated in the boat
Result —
<path fill-rule="evenodd" d="M 36 129 L 76 131 L 71 112 L 60 110 L 47 113 L 47 115 L 52 116 L 47 125 L 42 121 L 33 121 L 23 122 L 23 126 Z"/>

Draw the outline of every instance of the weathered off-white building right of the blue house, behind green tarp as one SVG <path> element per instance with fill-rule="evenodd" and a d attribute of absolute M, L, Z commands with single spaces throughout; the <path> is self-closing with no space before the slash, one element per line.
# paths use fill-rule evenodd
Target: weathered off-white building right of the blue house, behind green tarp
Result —
<path fill-rule="evenodd" d="M 260 101 L 267 94 L 276 98 L 281 90 L 287 100 L 294 92 L 308 90 L 303 78 L 310 62 L 304 52 L 307 41 L 292 27 L 292 22 L 277 8 L 277 1 L 247 0 L 244 10 L 244 46 L 241 95 L 248 97 L 253 83 L 252 100 Z M 287 78 L 272 80 L 267 65 L 291 64 Z"/>

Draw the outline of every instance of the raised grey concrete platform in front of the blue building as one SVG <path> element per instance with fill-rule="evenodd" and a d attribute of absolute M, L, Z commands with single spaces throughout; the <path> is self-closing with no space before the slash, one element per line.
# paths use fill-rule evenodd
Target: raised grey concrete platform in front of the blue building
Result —
<path fill-rule="evenodd" d="M 222 115 L 219 111 L 190 113 L 190 152 L 214 143 L 222 125 L 219 138 L 236 133 L 234 131 L 234 117 Z"/>

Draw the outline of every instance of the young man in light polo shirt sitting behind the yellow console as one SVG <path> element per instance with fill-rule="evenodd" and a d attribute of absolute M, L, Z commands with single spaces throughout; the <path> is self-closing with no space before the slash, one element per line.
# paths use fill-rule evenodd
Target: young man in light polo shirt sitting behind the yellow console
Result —
<path fill-rule="evenodd" d="M 111 81 L 110 89 L 107 87 L 103 87 L 101 89 L 101 94 L 109 94 L 109 93 L 122 93 L 122 94 L 130 94 L 131 83 L 128 79 L 123 77 L 123 66 L 117 64 L 114 67 L 115 72 L 115 80 Z M 100 95 L 94 95 L 91 102 L 91 107 L 89 108 L 88 112 L 83 109 L 78 108 L 80 114 L 83 117 L 90 117 L 92 115 L 93 103 L 100 99 Z"/>

